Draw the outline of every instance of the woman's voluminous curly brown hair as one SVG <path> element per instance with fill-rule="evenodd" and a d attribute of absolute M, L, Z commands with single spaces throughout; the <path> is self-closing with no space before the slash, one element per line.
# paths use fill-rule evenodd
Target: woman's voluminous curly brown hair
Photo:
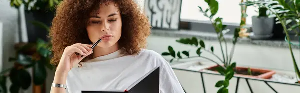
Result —
<path fill-rule="evenodd" d="M 89 14 L 101 4 L 113 1 L 119 7 L 122 19 L 122 35 L 118 41 L 121 53 L 138 54 L 146 47 L 150 35 L 150 23 L 134 0 L 64 0 L 56 9 L 49 37 L 52 43 L 51 64 L 57 66 L 65 47 L 75 43 L 92 44 L 86 26 Z M 82 61 L 91 59 L 93 54 Z"/>

